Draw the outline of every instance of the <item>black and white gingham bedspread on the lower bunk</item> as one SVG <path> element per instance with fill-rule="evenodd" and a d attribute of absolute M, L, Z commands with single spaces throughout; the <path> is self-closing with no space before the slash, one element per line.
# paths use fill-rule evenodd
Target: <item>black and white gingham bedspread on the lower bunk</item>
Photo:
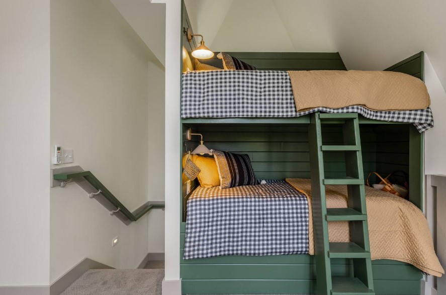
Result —
<path fill-rule="evenodd" d="M 308 253 L 308 202 L 285 181 L 198 187 L 188 200 L 184 259 Z"/>

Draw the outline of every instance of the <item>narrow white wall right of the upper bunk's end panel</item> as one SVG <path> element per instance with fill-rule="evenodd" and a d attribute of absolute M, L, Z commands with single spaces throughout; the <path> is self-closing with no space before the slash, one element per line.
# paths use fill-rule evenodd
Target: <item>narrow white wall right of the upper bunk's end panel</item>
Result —
<path fill-rule="evenodd" d="M 429 91 L 434 128 L 424 137 L 424 159 L 426 174 L 446 175 L 446 93 L 427 54 L 424 54 L 424 80 Z"/>

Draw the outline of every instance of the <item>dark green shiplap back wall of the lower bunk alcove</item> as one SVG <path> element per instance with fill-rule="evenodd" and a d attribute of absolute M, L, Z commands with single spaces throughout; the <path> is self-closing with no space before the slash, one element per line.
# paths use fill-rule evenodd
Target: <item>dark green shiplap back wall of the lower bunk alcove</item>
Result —
<path fill-rule="evenodd" d="M 194 126 L 203 134 L 208 148 L 248 154 L 258 179 L 309 178 L 308 126 L 251 124 L 201 124 Z M 326 144 L 342 143 L 340 126 L 324 128 Z M 362 127 L 365 173 L 376 170 L 376 134 L 373 127 Z M 326 175 L 345 176 L 344 153 L 331 152 L 325 157 Z"/>

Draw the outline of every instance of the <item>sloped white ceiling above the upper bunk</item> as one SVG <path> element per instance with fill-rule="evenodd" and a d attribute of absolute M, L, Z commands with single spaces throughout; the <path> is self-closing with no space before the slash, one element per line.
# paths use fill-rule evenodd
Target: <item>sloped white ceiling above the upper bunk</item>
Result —
<path fill-rule="evenodd" d="M 338 51 L 349 69 L 381 70 L 424 50 L 446 86 L 444 0 L 186 0 L 186 6 L 214 51 Z"/>

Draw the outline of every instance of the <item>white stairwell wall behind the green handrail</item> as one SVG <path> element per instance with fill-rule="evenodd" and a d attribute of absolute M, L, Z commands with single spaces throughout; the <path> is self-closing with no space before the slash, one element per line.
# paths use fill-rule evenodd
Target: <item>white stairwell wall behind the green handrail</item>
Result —
<path fill-rule="evenodd" d="M 69 165 L 91 170 L 130 211 L 149 195 L 163 199 L 162 162 L 153 176 L 148 154 L 152 126 L 163 134 L 159 116 L 153 121 L 163 112 L 159 68 L 108 0 L 51 1 L 51 146 L 72 148 Z M 155 89 L 149 79 L 159 81 Z M 135 268 L 150 251 L 147 216 L 126 226 L 75 183 L 52 188 L 50 199 L 51 282 L 86 257 Z"/>

